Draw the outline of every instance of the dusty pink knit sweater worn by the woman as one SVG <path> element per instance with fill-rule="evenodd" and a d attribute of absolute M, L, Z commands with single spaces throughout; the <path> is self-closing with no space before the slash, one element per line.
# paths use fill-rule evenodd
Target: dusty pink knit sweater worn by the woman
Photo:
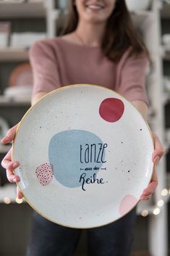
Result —
<path fill-rule="evenodd" d="M 57 37 L 37 41 L 30 49 L 33 67 L 33 95 L 49 92 L 60 86 L 90 83 L 105 86 L 122 94 L 127 100 L 148 104 L 145 92 L 147 57 L 129 57 L 127 50 L 114 63 L 99 46 L 82 46 Z"/>

